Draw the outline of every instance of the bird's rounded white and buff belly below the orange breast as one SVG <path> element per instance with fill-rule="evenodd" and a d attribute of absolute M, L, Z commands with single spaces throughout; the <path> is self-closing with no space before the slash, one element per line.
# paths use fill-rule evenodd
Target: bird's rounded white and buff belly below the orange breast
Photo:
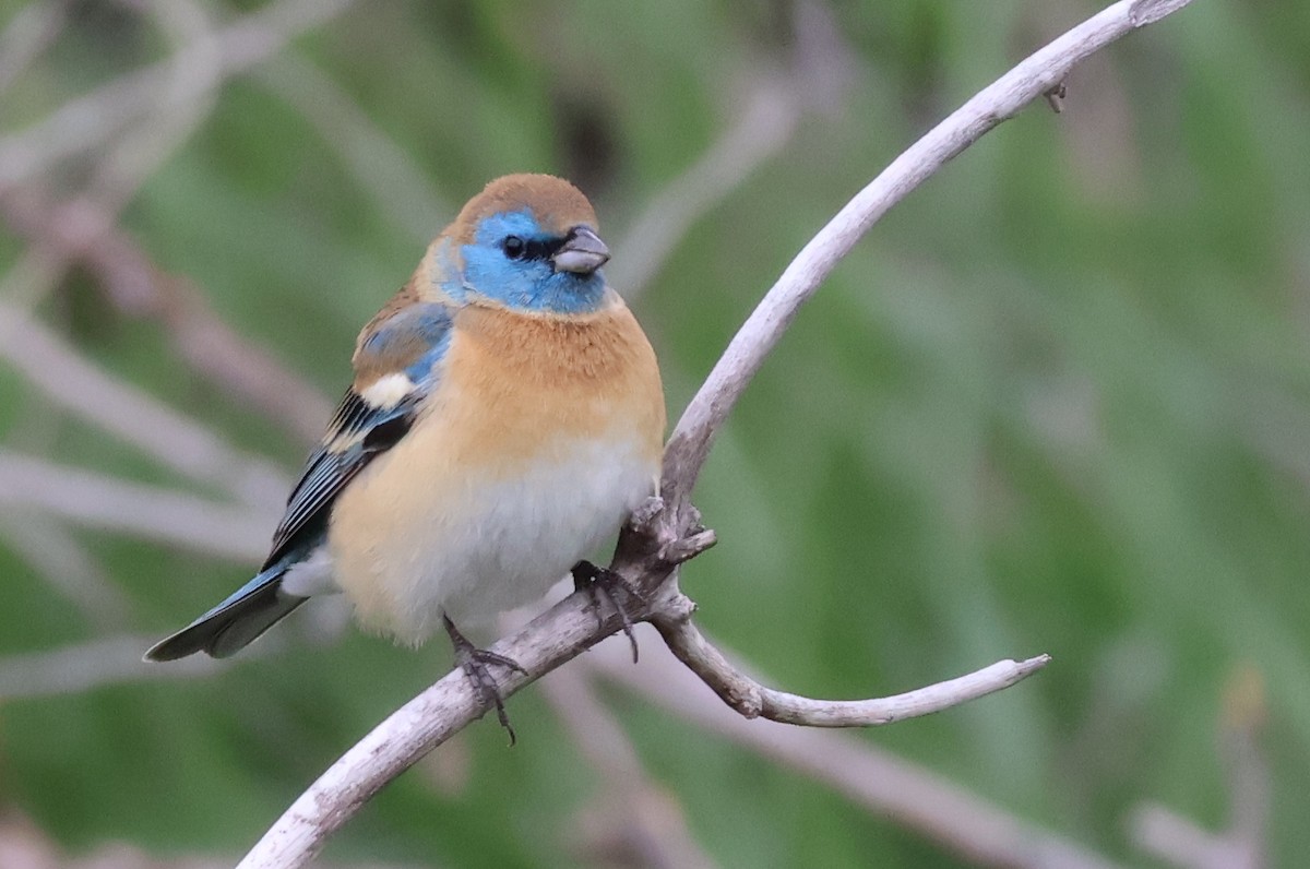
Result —
<path fill-rule="evenodd" d="M 550 460 L 514 474 L 417 468 L 397 455 L 405 447 L 424 450 L 402 442 L 342 493 L 329 547 L 360 623 L 411 644 L 443 611 L 462 628 L 538 599 L 654 493 L 659 472 L 609 439 L 552 444 Z"/>

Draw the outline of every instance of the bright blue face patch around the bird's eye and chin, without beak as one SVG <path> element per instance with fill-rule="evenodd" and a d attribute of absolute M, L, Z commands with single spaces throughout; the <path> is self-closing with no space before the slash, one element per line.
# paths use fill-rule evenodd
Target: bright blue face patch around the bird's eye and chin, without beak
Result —
<path fill-rule="evenodd" d="M 605 295 L 600 271 L 555 271 L 550 256 L 565 239 L 545 232 L 531 211 L 483 218 L 464 254 L 464 292 L 510 308 L 553 313 L 596 311 Z"/>

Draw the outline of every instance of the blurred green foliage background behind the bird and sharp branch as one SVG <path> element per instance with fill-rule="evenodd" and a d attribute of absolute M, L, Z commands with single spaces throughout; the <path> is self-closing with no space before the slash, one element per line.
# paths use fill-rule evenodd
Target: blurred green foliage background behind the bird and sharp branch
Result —
<path fill-rule="evenodd" d="M 330 604 L 136 658 L 259 561 L 356 330 L 487 180 L 591 197 L 676 418 L 850 195 L 1099 5 L 0 0 L 0 819 L 231 862 L 445 671 Z M 779 687 L 1053 655 L 858 738 L 1128 865 L 1165 865 L 1151 803 L 1310 853 L 1307 45 L 1305 3 L 1197 0 L 1079 67 L 859 242 L 697 489 L 684 589 Z M 971 865 L 599 691 L 710 861 Z M 597 844 L 544 692 L 510 710 L 514 751 L 472 726 L 325 859 L 658 865 Z"/>

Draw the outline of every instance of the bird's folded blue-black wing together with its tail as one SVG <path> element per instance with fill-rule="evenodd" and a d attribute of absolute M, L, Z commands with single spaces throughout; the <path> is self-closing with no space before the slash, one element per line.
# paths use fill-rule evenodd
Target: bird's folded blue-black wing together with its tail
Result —
<path fill-rule="evenodd" d="M 225 658 L 308 600 L 286 594 L 283 575 L 324 545 L 331 505 L 342 489 L 409 433 L 419 405 L 438 383 L 449 339 L 451 312 L 439 303 L 393 305 L 365 326 L 355 351 L 355 384 L 305 460 L 259 573 L 223 603 L 152 646 L 147 659 L 173 661 L 196 651 Z M 388 396 L 383 405 L 369 401 L 367 385 L 393 374 L 405 375 L 402 383 L 411 388 Z"/>

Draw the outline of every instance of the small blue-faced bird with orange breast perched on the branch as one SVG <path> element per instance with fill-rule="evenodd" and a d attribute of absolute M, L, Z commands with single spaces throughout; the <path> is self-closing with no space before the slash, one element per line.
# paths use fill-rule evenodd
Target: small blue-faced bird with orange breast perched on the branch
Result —
<path fill-rule="evenodd" d="M 359 333 L 354 379 L 309 454 L 259 571 L 148 661 L 229 657 L 342 591 L 369 632 L 439 627 L 510 729 L 457 625 L 532 603 L 658 494 L 655 353 L 601 266 L 595 211 L 548 174 L 496 178 Z M 510 729 L 511 743 L 514 730 Z"/>

